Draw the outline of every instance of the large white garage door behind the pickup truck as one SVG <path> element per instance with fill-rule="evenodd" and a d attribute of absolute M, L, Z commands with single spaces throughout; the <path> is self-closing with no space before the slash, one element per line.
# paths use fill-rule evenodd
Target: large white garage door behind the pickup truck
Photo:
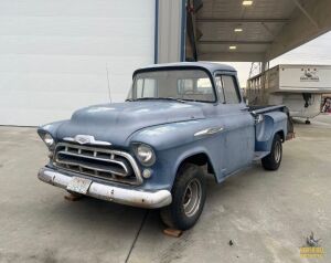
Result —
<path fill-rule="evenodd" d="M 0 125 L 70 118 L 109 90 L 124 101 L 153 63 L 154 12 L 154 0 L 1 0 Z"/>

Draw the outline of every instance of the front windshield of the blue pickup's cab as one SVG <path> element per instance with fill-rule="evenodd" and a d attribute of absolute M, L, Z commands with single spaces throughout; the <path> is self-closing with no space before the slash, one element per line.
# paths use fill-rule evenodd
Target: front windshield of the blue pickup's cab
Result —
<path fill-rule="evenodd" d="M 167 70 L 138 73 L 128 99 L 215 102 L 209 75 L 201 70 Z"/>

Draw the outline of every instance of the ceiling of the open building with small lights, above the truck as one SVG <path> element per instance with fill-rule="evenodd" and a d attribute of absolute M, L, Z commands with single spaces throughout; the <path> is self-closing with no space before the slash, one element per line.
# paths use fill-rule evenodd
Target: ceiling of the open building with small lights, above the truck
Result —
<path fill-rule="evenodd" d="M 202 3 L 192 15 L 199 60 L 269 61 L 331 29 L 330 0 L 196 2 Z"/>

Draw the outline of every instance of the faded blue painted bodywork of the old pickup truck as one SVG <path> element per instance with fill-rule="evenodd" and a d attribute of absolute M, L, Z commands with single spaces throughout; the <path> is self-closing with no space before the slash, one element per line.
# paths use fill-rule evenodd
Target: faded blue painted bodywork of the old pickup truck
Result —
<path fill-rule="evenodd" d="M 164 70 L 167 66 L 203 67 L 212 77 L 216 73 L 236 75 L 233 67 L 214 63 L 178 63 L 142 70 Z M 126 150 L 132 156 L 134 143 L 150 145 L 157 156 L 151 167 L 153 175 L 135 188 L 170 190 L 179 166 L 188 157 L 204 154 L 214 169 L 216 181 L 221 182 L 249 166 L 256 151 L 269 152 L 274 135 L 287 135 L 287 115 L 281 111 L 281 106 L 256 111 L 264 116 L 256 125 L 254 114 L 243 99 L 239 104 L 126 102 L 78 109 L 70 120 L 45 125 L 39 133 L 49 132 L 56 141 L 76 135 L 93 135 L 97 140 L 111 143 L 111 148 Z M 223 128 L 220 133 L 194 136 L 203 129 L 220 127 Z"/>

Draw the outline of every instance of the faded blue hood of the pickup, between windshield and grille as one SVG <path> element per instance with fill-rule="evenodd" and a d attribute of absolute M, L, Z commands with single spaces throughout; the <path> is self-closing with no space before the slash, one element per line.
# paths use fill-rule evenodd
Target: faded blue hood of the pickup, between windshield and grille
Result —
<path fill-rule="evenodd" d="M 57 129 L 57 138 L 92 135 L 117 146 L 126 146 L 135 132 L 167 123 L 204 118 L 199 105 L 180 102 L 145 101 L 95 105 L 76 111 Z"/>

